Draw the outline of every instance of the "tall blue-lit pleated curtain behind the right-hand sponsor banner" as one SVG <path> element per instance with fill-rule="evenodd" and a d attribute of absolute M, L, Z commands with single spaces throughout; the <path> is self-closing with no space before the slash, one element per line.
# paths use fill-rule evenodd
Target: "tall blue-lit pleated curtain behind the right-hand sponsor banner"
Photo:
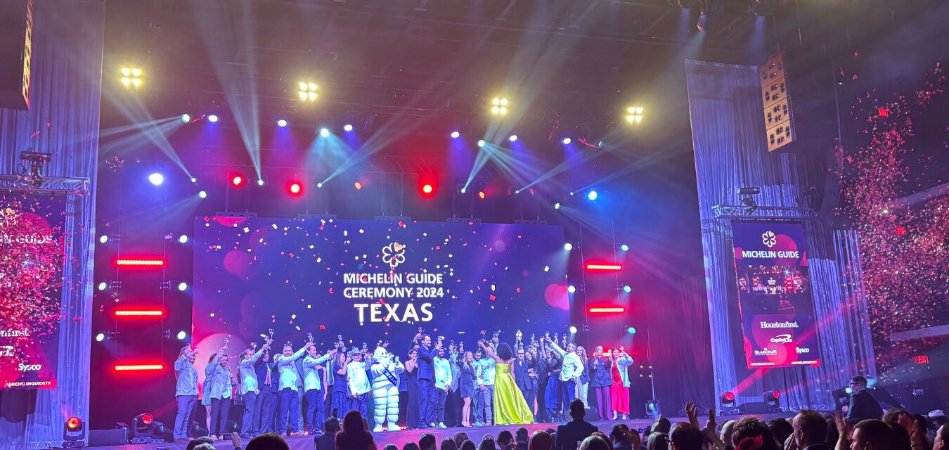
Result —
<path fill-rule="evenodd" d="M 740 187 L 760 188 L 755 197 L 760 206 L 798 206 L 804 188 L 821 185 L 823 152 L 767 152 L 756 66 L 686 61 L 685 67 L 716 399 L 734 391 L 739 404 L 761 402 L 765 391 L 777 389 L 785 408 L 832 408 L 831 391 L 873 366 L 856 235 L 835 234 L 820 218 L 805 222 L 822 366 L 749 369 L 742 351 L 731 226 L 712 211 L 716 205 L 740 204 Z"/>

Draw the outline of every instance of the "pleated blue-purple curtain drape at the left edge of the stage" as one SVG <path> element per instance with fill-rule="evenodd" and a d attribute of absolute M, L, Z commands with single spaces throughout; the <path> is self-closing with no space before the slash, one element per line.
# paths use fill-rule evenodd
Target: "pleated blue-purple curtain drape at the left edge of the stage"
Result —
<path fill-rule="evenodd" d="M 45 176 L 88 178 L 90 192 L 67 203 L 57 387 L 0 391 L 0 448 L 16 449 L 60 446 L 67 418 L 88 422 L 104 2 L 37 1 L 33 24 L 31 105 L 0 108 L 0 174 L 33 147 L 53 155 Z"/>

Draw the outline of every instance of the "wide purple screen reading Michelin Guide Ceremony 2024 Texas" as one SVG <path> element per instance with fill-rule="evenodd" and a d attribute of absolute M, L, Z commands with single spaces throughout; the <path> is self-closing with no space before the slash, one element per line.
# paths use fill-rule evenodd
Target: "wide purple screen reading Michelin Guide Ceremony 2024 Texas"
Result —
<path fill-rule="evenodd" d="M 482 329 L 528 340 L 567 330 L 566 264 L 559 226 L 199 217 L 194 342 L 231 335 L 236 351 L 273 328 L 276 344 L 342 334 L 402 354 L 419 327 L 468 349 Z"/>

